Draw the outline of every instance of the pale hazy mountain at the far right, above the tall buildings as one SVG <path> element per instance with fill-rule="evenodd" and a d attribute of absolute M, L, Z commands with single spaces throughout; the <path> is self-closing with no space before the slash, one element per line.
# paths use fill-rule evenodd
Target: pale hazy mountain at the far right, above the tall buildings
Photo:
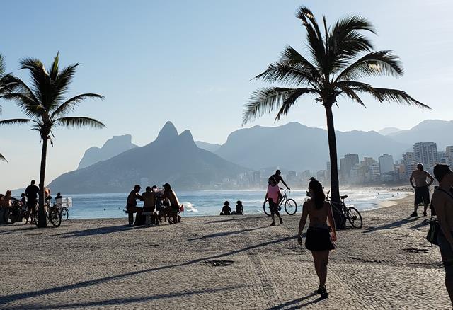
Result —
<path fill-rule="evenodd" d="M 437 150 L 453 145 L 453 120 L 424 120 L 410 130 L 401 130 L 389 137 L 396 142 L 415 144 L 415 142 L 436 142 Z"/>

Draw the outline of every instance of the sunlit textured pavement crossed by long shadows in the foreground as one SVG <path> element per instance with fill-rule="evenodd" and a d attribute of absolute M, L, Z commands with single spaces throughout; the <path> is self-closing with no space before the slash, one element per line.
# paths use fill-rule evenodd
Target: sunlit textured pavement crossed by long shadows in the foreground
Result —
<path fill-rule="evenodd" d="M 395 203 L 338 232 L 324 300 L 299 215 L 1 225 L 0 309 L 451 309 L 429 218 L 408 218 L 412 197 Z"/>

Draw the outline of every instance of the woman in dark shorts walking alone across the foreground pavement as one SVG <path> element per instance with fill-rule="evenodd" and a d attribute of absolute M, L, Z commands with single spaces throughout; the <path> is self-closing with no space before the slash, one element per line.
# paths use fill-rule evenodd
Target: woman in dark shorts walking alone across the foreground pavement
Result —
<path fill-rule="evenodd" d="M 306 231 L 305 247 L 311 251 L 314 260 L 316 275 L 319 277 L 318 294 L 327 298 L 326 289 L 328 253 L 335 248 L 333 241 L 337 240 L 335 222 L 332 216 L 332 207 L 326 202 L 326 195 L 323 186 L 318 180 L 311 180 L 309 183 L 309 194 L 311 199 L 304 203 L 302 217 L 299 222 L 299 234 L 297 241 L 302 245 L 302 231 L 306 223 L 307 215 L 310 218 L 309 228 Z M 332 236 L 329 234 L 329 226 Z"/>

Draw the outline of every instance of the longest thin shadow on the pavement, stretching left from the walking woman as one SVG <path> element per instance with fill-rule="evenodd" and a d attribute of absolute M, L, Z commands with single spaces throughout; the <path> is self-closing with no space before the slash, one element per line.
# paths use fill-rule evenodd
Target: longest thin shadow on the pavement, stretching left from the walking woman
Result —
<path fill-rule="evenodd" d="M 124 226 L 120 226 L 120 227 L 124 227 Z M 90 230 L 90 229 L 88 229 L 88 230 Z M 59 287 L 52 287 L 50 289 L 40 289 L 38 291 L 24 292 L 24 293 L 19 293 L 19 294 L 11 294 L 11 295 L 6 295 L 6 296 L 1 296 L 0 297 L 0 304 L 2 305 L 2 309 L 8 309 L 8 308 L 6 308 L 4 306 L 4 304 L 6 304 L 8 302 L 15 302 L 17 300 L 37 297 L 37 296 L 41 296 L 41 295 L 54 294 L 54 293 L 59 293 L 59 292 L 66 292 L 66 291 L 69 291 L 69 290 L 72 290 L 72 289 L 80 289 L 82 287 L 90 287 L 92 285 L 100 285 L 100 284 L 103 284 L 105 282 L 110 282 L 110 281 L 114 281 L 114 280 L 122 280 L 122 279 L 125 279 L 126 277 L 131 277 L 133 275 L 140 275 L 140 274 L 149 273 L 149 272 L 156 272 L 156 271 L 159 271 L 159 270 L 166 270 L 166 269 L 175 268 L 175 267 L 193 265 L 195 263 L 200 263 L 200 262 L 205 261 L 205 260 L 214 260 L 214 259 L 217 259 L 217 258 L 224 258 L 226 256 L 231 256 L 231 255 L 234 255 L 234 254 L 237 254 L 237 253 L 249 251 L 249 250 L 252 250 L 254 248 L 260 248 L 262 246 L 270 246 L 270 245 L 272 245 L 274 243 L 285 242 L 285 241 L 293 240 L 293 239 L 296 239 L 296 238 L 297 238 L 297 236 L 287 236 L 287 237 L 280 238 L 280 239 L 277 239 L 277 240 L 267 241 L 267 242 L 263 242 L 263 243 L 254 244 L 252 246 L 247 246 L 246 248 L 240 248 L 238 250 L 229 251 L 229 252 L 226 252 L 226 253 L 220 253 L 220 254 L 217 254 L 217 255 L 214 255 L 214 256 L 209 256 L 209 257 L 205 257 L 205 258 L 197 258 L 195 260 L 189 260 L 188 262 L 185 262 L 185 263 L 178 263 L 178 264 L 166 265 L 166 266 L 161 266 L 161 267 L 156 267 L 156 268 L 137 270 L 137 271 L 127 272 L 127 273 L 122 273 L 121 275 L 112 275 L 110 277 L 101 277 L 101 278 L 98 278 L 98 279 L 88 280 L 88 281 L 78 282 L 78 283 L 73 283 L 73 284 L 70 284 L 70 285 L 62 285 L 62 286 L 59 286 Z"/>

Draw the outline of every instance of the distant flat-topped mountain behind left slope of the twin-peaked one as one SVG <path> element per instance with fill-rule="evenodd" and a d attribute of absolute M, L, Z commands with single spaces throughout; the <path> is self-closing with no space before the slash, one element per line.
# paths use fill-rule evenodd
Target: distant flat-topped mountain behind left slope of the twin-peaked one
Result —
<path fill-rule="evenodd" d="M 77 169 L 91 166 L 98 161 L 111 159 L 113 156 L 117 156 L 117 154 L 121 154 L 123 151 L 128 151 L 134 147 L 138 146 L 132 143 L 132 136 L 130 134 L 114 136 L 112 139 L 108 139 L 101 149 L 98 147 L 87 149 Z"/>

